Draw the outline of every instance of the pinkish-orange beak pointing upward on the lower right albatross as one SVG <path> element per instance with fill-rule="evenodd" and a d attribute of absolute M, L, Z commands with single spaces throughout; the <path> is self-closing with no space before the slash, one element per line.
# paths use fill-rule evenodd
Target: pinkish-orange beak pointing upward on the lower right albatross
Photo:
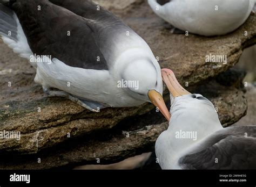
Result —
<path fill-rule="evenodd" d="M 161 74 L 163 81 L 165 82 L 168 90 L 172 93 L 173 97 L 191 94 L 181 87 L 171 69 L 161 69 Z"/>

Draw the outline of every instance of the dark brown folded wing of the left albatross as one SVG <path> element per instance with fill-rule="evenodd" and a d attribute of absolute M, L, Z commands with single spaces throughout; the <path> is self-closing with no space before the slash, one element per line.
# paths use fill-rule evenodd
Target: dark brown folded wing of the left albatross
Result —
<path fill-rule="evenodd" d="M 108 69 L 93 30 L 101 28 L 97 23 L 92 28 L 89 20 L 48 0 L 17 0 L 12 9 L 33 53 L 51 55 L 72 67 Z"/>

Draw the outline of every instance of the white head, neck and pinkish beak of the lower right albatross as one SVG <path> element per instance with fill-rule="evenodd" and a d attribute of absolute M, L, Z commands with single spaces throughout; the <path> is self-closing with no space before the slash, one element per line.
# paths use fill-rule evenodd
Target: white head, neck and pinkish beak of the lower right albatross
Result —
<path fill-rule="evenodd" d="M 179 169 L 181 156 L 223 127 L 210 100 L 186 91 L 170 69 L 162 69 L 161 74 L 170 91 L 171 119 L 157 139 L 156 155 L 162 169 Z"/>

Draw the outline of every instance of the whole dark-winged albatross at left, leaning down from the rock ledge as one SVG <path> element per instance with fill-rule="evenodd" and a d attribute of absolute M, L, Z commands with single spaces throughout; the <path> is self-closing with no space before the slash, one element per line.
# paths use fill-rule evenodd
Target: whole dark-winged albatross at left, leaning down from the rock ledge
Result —
<path fill-rule="evenodd" d="M 0 35 L 30 60 L 35 82 L 49 96 L 91 111 L 152 102 L 170 118 L 150 47 L 111 12 L 90 0 L 17 0 L 8 6 L 0 4 Z"/>

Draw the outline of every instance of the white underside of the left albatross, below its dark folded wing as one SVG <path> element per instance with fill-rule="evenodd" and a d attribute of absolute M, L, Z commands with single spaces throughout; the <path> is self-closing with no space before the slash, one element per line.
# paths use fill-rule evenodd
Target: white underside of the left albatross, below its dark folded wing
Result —
<path fill-rule="evenodd" d="M 109 71 L 70 67 L 58 59 L 52 59 L 51 63 L 37 63 L 35 82 L 113 107 L 145 103 L 118 88 L 117 81 Z"/>

